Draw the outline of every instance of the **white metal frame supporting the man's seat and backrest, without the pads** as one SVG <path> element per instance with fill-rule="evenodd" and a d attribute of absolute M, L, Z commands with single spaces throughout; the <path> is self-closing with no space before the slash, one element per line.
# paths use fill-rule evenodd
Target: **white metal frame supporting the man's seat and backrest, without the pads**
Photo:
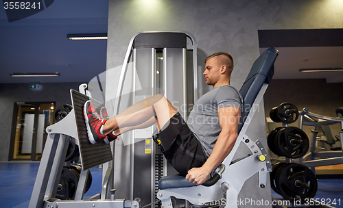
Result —
<path fill-rule="evenodd" d="M 257 98 L 252 105 L 252 109 L 250 109 L 247 120 L 251 120 L 254 116 L 267 87 L 268 84 L 265 83 L 257 95 Z M 160 190 L 157 197 L 162 201 L 163 207 L 172 207 L 171 196 L 186 199 L 193 205 L 203 205 L 204 203 L 209 203 L 211 201 L 222 202 L 224 194 L 226 194 L 226 197 L 224 197 L 226 199 L 226 207 L 237 207 L 237 196 L 241 191 L 241 187 L 243 187 L 244 182 L 247 179 L 257 172 L 259 173 L 257 185 L 261 188 L 267 187 L 267 174 L 272 171 L 272 164 L 270 163 L 267 151 L 261 142 L 259 140 L 254 142 L 254 140 L 246 135 L 248 126 L 248 123 L 243 126 L 233 150 L 222 163 L 225 166 L 225 171 L 222 173 L 222 179 L 210 187 L 200 185 Z M 235 155 L 235 152 L 241 143 L 249 148 L 250 154 L 244 158 L 233 161 L 233 155 Z M 259 160 L 261 155 L 263 155 L 265 159 Z"/>

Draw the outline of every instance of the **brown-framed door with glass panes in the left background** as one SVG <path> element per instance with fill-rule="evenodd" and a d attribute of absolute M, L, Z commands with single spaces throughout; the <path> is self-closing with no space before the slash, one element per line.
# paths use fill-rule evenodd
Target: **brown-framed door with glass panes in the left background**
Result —
<path fill-rule="evenodd" d="M 47 138 L 45 128 L 54 122 L 55 105 L 14 103 L 9 160 L 40 160 Z"/>

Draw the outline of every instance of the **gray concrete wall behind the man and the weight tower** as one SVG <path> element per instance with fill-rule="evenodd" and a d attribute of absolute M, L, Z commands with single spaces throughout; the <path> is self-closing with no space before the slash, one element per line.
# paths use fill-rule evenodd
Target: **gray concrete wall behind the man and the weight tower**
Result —
<path fill-rule="evenodd" d="M 113 97 L 115 81 L 130 38 L 140 31 L 189 31 L 198 41 L 199 95 L 209 91 L 204 84 L 202 60 L 217 51 L 233 55 L 231 84 L 240 88 L 252 63 L 259 57 L 259 29 L 342 28 L 340 1 L 250 1 L 250 0 L 110 0 L 108 14 L 108 57 L 106 99 Z M 110 75 L 110 76 L 109 76 Z M 300 105 L 299 105 L 300 106 Z M 247 135 L 265 138 L 263 104 Z M 265 142 L 265 141 L 264 141 Z M 120 151 L 121 153 L 121 151 Z M 125 165 L 121 165 L 125 168 Z M 246 181 L 239 198 L 270 200 L 270 190 L 255 189 L 257 176 Z M 121 182 L 123 181 L 123 182 Z M 127 185 L 125 178 L 117 185 Z M 269 193 L 268 193 L 269 191 Z M 126 192 L 119 193 L 126 197 Z M 249 207 L 249 206 L 247 206 Z M 251 207 L 251 206 L 250 206 Z"/>

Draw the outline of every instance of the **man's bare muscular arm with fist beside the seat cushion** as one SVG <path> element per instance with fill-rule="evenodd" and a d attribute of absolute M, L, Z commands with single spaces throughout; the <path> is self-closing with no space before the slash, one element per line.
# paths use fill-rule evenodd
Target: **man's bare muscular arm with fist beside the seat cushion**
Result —
<path fill-rule="evenodd" d="M 241 110 L 238 107 L 222 107 L 218 109 L 218 118 L 222 131 L 215 142 L 213 151 L 204 165 L 189 170 L 186 179 L 196 185 L 204 183 L 209 174 L 228 156 L 237 140 L 237 129 Z"/>

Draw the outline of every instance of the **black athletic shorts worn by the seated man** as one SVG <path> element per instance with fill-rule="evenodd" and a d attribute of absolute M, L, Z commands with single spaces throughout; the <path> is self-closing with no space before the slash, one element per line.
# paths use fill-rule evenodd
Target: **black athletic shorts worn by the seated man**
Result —
<path fill-rule="evenodd" d="M 163 155 L 181 175 L 186 176 L 188 170 L 205 163 L 202 145 L 179 113 L 158 134 Z"/>

